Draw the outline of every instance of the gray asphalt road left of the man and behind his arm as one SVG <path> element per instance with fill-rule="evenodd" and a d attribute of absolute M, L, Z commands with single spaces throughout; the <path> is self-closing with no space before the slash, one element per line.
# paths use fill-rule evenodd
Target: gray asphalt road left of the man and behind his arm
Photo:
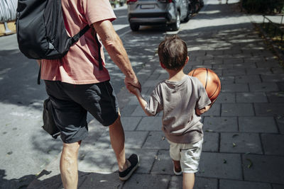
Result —
<path fill-rule="evenodd" d="M 143 26 L 138 32 L 132 32 L 126 6 L 116 8 L 115 13 L 114 28 L 124 42 L 137 73 L 147 64 L 153 64 L 151 59 L 167 31 L 161 26 Z M 186 24 L 182 23 L 181 30 Z M 111 82 L 119 93 L 124 88 L 124 75 L 105 54 Z M 1 37 L 0 188 L 13 185 L 13 181 L 21 181 L 23 176 L 25 181 L 21 182 L 28 183 L 27 178 L 32 180 L 61 151 L 60 139 L 52 139 L 40 127 L 43 124 L 43 101 L 47 95 L 43 82 L 37 84 L 37 76 L 38 65 L 18 50 L 16 35 Z M 92 117 L 88 116 L 88 120 Z"/>

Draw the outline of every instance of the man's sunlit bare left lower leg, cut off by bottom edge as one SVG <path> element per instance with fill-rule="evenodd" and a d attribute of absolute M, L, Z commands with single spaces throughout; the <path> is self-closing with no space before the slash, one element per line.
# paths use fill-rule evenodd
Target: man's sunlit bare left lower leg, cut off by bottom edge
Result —
<path fill-rule="evenodd" d="M 62 154 L 60 158 L 60 173 L 65 189 L 76 189 L 78 185 L 78 164 L 77 156 L 80 142 L 63 143 Z"/>

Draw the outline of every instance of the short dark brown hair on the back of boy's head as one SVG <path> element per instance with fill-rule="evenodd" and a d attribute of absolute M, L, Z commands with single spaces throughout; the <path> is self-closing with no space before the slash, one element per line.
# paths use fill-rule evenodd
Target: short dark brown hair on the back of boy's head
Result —
<path fill-rule="evenodd" d="M 185 65 L 187 59 L 187 45 L 177 35 L 165 38 L 158 47 L 160 62 L 167 69 L 179 70 Z"/>

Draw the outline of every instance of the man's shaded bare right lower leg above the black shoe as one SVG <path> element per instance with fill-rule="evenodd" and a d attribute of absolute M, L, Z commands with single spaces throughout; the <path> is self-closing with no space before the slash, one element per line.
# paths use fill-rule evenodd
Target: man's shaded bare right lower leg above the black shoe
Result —
<path fill-rule="evenodd" d="M 109 137 L 111 139 L 111 147 L 116 154 L 116 160 L 119 164 L 119 171 L 124 171 L 129 163 L 126 163 L 124 148 L 124 128 L 121 125 L 120 114 L 116 121 L 109 126 Z"/>

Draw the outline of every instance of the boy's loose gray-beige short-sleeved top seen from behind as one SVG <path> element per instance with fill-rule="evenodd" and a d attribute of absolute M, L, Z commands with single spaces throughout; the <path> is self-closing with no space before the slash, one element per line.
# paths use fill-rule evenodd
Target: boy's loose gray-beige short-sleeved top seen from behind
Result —
<path fill-rule="evenodd" d="M 202 83 L 185 75 L 181 81 L 161 81 L 152 92 L 146 111 L 151 115 L 163 111 L 165 137 L 171 142 L 190 144 L 203 138 L 201 117 L 195 107 L 202 109 L 210 103 Z"/>

